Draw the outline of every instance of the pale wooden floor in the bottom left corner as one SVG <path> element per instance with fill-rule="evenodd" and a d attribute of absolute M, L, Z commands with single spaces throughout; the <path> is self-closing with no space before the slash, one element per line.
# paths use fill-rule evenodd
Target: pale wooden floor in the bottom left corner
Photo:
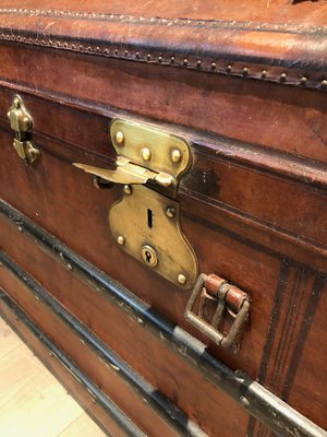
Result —
<path fill-rule="evenodd" d="M 105 437 L 1 318 L 0 436 Z"/>

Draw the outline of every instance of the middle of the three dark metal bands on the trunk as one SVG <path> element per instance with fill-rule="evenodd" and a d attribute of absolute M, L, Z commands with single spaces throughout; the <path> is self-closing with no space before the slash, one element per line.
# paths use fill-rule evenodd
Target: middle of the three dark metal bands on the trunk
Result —
<path fill-rule="evenodd" d="M 195 423 L 171 403 L 162 393 L 156 390 L 148 381 L 144 380 L 132 369 L 116 352 L 108 347 L 78 319 L 60 305 L 39 283 L 26 271 L 14 262 L 7 253 L 0 250 L 0 264 L 7 268 L 37 299 L 43 302 L 53 314 L 68 324 L 81 341 L 90 346 L 97 356 L 108 363 L 116 371 L 118 378 L 122 378 L 146 403 L 175 428 L 181 435 L 192 437 L 207 436 Z"/>

